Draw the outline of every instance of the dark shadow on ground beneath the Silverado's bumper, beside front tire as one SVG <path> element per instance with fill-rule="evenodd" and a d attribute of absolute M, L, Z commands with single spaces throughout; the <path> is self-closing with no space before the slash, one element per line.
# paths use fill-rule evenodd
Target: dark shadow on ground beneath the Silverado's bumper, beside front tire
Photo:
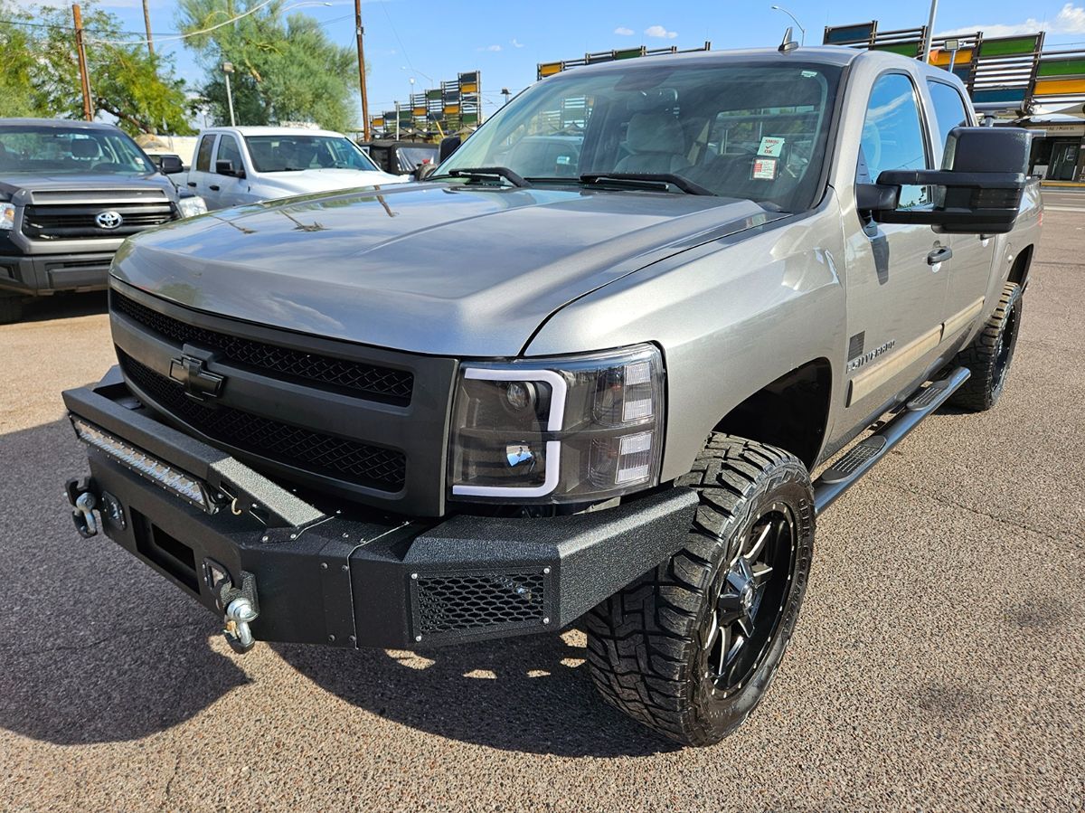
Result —
<path fill-rule="evenodd" d="M 576 630 L 419 652 L 273 647 L 347 702 L 449 739 L 559 757 L 679 749 L 598 697 Z"/>

